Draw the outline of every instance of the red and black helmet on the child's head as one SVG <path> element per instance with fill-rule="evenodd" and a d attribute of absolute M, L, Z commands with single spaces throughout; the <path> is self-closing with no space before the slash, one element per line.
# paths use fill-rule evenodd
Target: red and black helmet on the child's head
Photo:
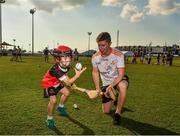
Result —
<path fill-rule="evenodd" d="M 60 45 L 53 50 L 54 57 L 65 57 L 70 56 L 72 57 L 72 49 L 66 45 Z"/>

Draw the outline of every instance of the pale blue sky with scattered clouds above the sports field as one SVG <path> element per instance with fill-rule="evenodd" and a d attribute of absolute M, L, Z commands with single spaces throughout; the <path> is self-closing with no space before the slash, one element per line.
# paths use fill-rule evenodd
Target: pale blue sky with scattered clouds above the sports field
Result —
<path fill-rule="evenodd" d="M 31 15 L 36 8 L 35 51 L 59 44 L 97 49 L 95 39 L 102 31 L 120 45 L 180 45 L 180 0 L 6 0 L 2 4 L 3 41 L 27 51 L 31 44 Z"/>

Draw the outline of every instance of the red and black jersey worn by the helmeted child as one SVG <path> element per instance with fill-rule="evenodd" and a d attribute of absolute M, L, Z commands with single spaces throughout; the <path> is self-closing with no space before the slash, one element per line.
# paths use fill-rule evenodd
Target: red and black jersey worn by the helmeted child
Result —
<path fill-rule="evenodd" d="M 43 77 L 43 88 L 57 87 L 66 78 L 68 71 L 69 68 L 62 69 L 58 64 L 54 64 Z"/>

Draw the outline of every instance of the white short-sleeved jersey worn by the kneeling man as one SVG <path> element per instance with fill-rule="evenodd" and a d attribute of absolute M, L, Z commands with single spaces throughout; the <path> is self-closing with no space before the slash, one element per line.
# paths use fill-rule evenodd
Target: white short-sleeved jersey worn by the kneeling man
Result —
<path fill-rule="evenodd" d="M 106 57 L 97 52 L 92 57 L 92 65 L 98 68 L 103 86 L 107 86 L 118 76 L 118 68 L 125 67 L 124 55 L 117 49 L 112 49 L 111 54 Z"/>

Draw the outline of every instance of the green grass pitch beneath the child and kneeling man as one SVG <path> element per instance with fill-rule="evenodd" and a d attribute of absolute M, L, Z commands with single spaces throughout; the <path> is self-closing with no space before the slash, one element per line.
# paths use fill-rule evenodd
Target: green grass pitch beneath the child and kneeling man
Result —
<path fill-rule="evenodd" d="M 48 99 L 43 98 L 41 88 L 52 58 L 50 63 L 45 63 L 43 57 L 23 57 L 23 62 L 9 60 L 0 57 L 0 135 L 180 134 L 180 58 L 174 59 L 172 67 L 126 65 L 130 86 L 120 126 L 112 124 L 112 114 L 102 113 L 100 98 L 90 100 L 86 94 L 72 91 L 66 103 L 69 117 L 55 112 L 54 130 L 46 126 Z M 80 62 L 87 70 L 76 84 L 94 88 L 90 58 L 81 57 Z M 71 69 L 69 75 L 73 74 Z M 79 110 L 73 108 L 74 103 Z"/>

